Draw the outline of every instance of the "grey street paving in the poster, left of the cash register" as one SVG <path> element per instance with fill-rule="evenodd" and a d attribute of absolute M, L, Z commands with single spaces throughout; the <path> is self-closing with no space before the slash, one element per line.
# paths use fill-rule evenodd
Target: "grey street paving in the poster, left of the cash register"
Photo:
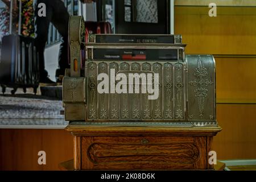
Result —
<path fill-rule="evenodd" d="M 40 95 L 34 95 L 33 90 L 28 89 L 24 94 L 18 89 L 14 95 L 11 89 L 0 94 L 0 126 L 7 125 L 36 125 L 36 126 L 64 126 L 64 110 L 62 101 Z"/>

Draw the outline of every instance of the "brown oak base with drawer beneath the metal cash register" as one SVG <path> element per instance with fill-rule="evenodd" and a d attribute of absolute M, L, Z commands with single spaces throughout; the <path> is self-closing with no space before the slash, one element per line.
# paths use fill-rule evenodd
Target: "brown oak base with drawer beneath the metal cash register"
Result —
<path fill-rule="evenodd" d="M 79 127 L 74 169 L 213 169 L 208 163 L 220 127 Z"/>

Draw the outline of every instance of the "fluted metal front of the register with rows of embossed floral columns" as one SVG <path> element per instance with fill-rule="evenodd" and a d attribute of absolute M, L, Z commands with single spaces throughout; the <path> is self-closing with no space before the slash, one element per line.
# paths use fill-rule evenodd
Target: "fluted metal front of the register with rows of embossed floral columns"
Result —
<path fill-rule="evenodd" d="M 184 67 L 185 63 L 171 61 L 86 61 L 85 76 L 88 82 L 86 96 L 88 117 L 86 120 L 184 121 Z M 146 73 L 158 73 L 159 97 L 156 100 L 148 100 L 148 95 L 150 95 L 148 92 L 118 94 L 110 93 L 110 88 L 108 94 L 99 94 L 95 84 L 97 75 L 94 74 L 106 73 L 110 76 L 110 69 L 114 69 L 115 76 L 117 73 L 124 73 L 127 81 L 129 73 L 145 73 L 145 75 Z M 109 77 L 109 83 L 110 81 Z M 118 81 L 115 81 L 114 85 L 117 84 Z M 142 90 L 142 85 L 139 85 L 139 89 Z M 129 84 L 127 84 L 128 91 Z"/>

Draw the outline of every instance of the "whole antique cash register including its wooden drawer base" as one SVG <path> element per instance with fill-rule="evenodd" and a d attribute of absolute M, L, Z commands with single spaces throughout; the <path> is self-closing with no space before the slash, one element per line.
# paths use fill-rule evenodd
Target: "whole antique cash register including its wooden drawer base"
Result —
<path fill-rule="evenodd" d="M 185 55 L 180 35 L 85 39 L 84 29 L 71 16 L 63 105 L 74 168 L 213 169 L 214 57 Z"/>

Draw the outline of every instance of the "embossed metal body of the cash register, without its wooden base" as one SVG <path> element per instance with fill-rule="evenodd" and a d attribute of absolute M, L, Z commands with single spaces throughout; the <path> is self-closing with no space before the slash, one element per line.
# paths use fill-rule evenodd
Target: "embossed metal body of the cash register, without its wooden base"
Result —
<path fill-rule="evenodd" d="M 71 18 L 71 23 L 76 20 Z M 79 43 L 81 49 L 85 47 L 86 59 L 85 63 L 79 60 L 85 69 L 78 70 L 84 74 L 72 70 L 64 77 L 63 102 L 68 121 L 109 121 L 120 125 L 127 122 L 180 122 L 192 126 L 217 126 L 213 56 L 185 55 L 185 44 L 181 43 L 180 35 L 89 35 L 89 42 L 85 43 L 82 38 L 77 38 L 82 35 L 76 31 L 70 25 L 71 51 Z M 71 65 L 73 69 L 72 61 Z M 130 73 L 141 76 L 139 84 L 129 83 Z M 145 86 L 142 76 L 151 74 L 154 82 L 155 73 L 159 78 L 159 96 L 149 100 L 152 93 L 147 89 L 146 93 L 142 92 Z M 100 74 L 108 76 L 109 86 L 105 88 L 108 93 L 98 92 L 102 81 L 98 80 Z M 119 74 L 126 77 L 125 85 Z M 152 88 L 156 86 L 153 82 Z M 117 93 L 115 90 L 125 87 L 127 92 Z M 139 88 L 138 93 L 136 88 Z M 79 114 L 74 114 L 76 109 Z"/>

